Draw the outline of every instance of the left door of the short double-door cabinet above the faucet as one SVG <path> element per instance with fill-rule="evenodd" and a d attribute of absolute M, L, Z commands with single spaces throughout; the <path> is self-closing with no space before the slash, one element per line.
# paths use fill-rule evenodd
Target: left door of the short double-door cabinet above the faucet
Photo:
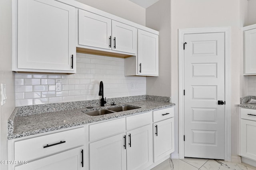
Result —
<path fill-rule="evenodd" d="M 111 49 L 111 19 L 78 10 L 78 44 Z"/>

